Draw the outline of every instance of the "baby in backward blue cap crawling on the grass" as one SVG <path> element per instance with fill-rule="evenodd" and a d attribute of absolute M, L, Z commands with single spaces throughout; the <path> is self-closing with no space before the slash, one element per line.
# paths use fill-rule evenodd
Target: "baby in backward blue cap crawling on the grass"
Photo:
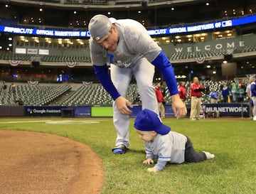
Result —
<path fill-rule="evenodd" d="M 207 151 L 197 153 L 193 149 L 191 140 L 178 132 L 171 131 L 169 126 L 161 122 L 159 115 L 149 109 L 144 109 L 137 114 L 134 128 L 139 138 L 145 141 L 146 160 L 144 164 L 157 163 L 149 172 L 156 173 L 166 166 L 166 163 L 197 163 L 214 158 L 214 154 Z"/>

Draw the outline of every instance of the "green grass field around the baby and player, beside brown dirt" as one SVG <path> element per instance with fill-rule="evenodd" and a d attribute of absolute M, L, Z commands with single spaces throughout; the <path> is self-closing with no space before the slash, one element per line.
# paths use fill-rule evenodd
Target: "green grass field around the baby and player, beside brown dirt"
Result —
<path fill-rule="evenodd" d="M 61 123 L 67 120 L 70 122 Z M 16 123 L 18 121 L 20 123 Z M 164 171 L 148 173 L 147 166 L 142 164 L 144 142 L 133 129 L 133 121 L 131 119 L 130 151 L 123 155 L 111 152 L 116 138 L 111 118 L 1 119 L 0 129 L 57 134 L 87 144 L 102 158 L 104 194 L 255 193 L 256 122 L 240 118 L 196 122 L 164 119 L 171 130 L 190 137 L 197 151 L 210 151 L 215 153 L 215 158 L 202 163 L 169 164 Z"/>

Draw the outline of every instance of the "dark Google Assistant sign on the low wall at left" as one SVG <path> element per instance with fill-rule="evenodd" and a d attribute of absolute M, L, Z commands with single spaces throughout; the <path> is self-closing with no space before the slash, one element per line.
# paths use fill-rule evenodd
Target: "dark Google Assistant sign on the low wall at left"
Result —
<path fill-rule="evenodd" d="M 25 107 L 26 116 L 56 117 L 61 116 L 61 109 L 65 107 Z"/>

